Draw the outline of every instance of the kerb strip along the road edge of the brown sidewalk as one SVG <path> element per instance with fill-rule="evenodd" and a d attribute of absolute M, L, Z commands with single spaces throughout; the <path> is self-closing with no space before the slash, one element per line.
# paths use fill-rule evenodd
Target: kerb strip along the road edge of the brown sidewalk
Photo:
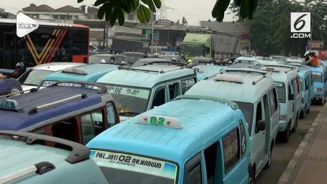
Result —
<path fill-rule="evenodd" d="M 325 110 L 327 109 L 327 103 L 325 103 L 325 105 L 322 107 L 322 111 L 319 112 L 319 114 L 317 115 L 317 117 L 315 118 L 315 120 L 312 123 L 311 128 L 309 128 L 306 136 L 304 137 L 304 139 L 302 140 L 302 142 L 298 145 L 297 150 L 294 152 L 293 157 L 291 158 L 289 164 L 287 165 L 287 167 L 285 168 L 283 174 L 281 177 L 279 177 L 279 180 L 277 182 L 277 184 L 286 184 L 286 183 L 290 183 L 290 178 L 292 177 L 291 180 L 293 180 L 292 183 L 294 183 L 294 180 L 296 176 L 292 175 L 295 166 L 298 163 L 299 158 L 301 157 L 303 151 L 307 148 L 308 146 L 308 142 L 312 137 L 313 132 L 316 130 L 317 126 L 320 124 L 320 120 L 323 117 L 323 114 L 325 113 Z M 311 145 L 310 145 L 311 147 Z M 307 148 L 308 150 L 310 148 Z"/>

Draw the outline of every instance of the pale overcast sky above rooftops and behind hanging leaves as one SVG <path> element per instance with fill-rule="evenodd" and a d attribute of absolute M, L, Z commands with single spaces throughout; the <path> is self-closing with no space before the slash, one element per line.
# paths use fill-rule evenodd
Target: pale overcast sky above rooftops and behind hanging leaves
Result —
<path fill-rule="evenodd" d="M 77 0 L 0 0 L 0 8 L 5 9 L 6 12 L 17 14 L 19 10 L 30 6 L 31 3 L 34 3 L 36 6 L 45 4 L 51 6 L 54 9 L 57 9 L 66 5 L 71 5 L 74 7 L 79 7 L 81 5 L 92 6 L 92 4 L 94 4 L 95 2 L 96 0 L 84 0 L 84 2 L 79 4 L 77 3 Z M 215 0 L 161 0 L 161 3 L 162 5 L 165 5 L 162 7 L 166 7 L 165 12 L 167 15 L 167 19 L 172 21 L 177 21 L 177 19 L 181 21 L 182 17 L 184 16 L 188 21 L 188 25 L 195 26 L 199 25 L 200 20 L 215 20 L 211 16 L 212 8 L 216 3 Z M 227 12 L 229 11 L 227 10 Z M 232 21 L 233 15 L 227 14 L 227 12 L 225 12 L 224 21 Z M 159 14 L 160 12 L 157 12 L 157 15 Z M 161 13 L 161 15 L 165 15 L 165 13 Z"/>

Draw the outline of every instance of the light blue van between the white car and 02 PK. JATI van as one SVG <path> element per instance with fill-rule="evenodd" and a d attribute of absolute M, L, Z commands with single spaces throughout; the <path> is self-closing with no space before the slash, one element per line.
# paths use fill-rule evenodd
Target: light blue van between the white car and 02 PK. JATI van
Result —
<path fill-rule="evenodd" d="M 96 82 L 105 74 L 117 69 L 118 65 L 114 64 L 86 64 L 74 68 L 67 67 L 63 71 L 58 71 L 44 77 L 38 89 L 50 86 L 59 81 Z M 80 84 L 75 83 L 60 83 L 60 85 L 81 87 Z"/>

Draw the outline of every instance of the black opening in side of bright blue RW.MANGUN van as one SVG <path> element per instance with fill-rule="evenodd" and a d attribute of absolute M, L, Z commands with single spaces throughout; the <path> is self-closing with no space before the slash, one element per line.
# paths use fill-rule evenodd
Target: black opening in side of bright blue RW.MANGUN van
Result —
<path fill-rule="evenodd" d="M 212 144 L 204 150 L 204 160 L 208 184 L 213 184 L 215 181 L 217 145 L 218 142 Z"/>

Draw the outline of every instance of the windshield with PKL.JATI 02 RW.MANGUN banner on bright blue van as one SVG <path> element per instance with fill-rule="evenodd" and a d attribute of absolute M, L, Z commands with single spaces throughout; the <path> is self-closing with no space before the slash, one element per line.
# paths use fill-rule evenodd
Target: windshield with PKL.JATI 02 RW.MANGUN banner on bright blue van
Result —
<path fill-rule="evenodd" d="M 95 160 L 109 183 L 174 184 L 177 166 L 157 159 L 91 150 Z"/>

